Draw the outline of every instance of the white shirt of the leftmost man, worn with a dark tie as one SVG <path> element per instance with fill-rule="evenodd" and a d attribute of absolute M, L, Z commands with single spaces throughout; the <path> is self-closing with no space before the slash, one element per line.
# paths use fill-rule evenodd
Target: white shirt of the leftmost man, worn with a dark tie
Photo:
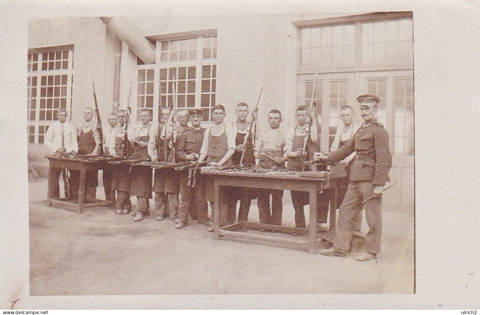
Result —
<path fill-rule="evenodd" d="M 50 127 L 48 127 L 48 130 L 45 133 L 45 140 L 43 143 L 45 143 L 47 148 L 50 150 L 50 153 L 55 153 L 58 149 L 60 149 L 62 127 L 65 151 L 78 152 L 77 129 L 73 127 L 73 125 L 69 122 L 61 123 L 58 120 L 54 122 Z"/>

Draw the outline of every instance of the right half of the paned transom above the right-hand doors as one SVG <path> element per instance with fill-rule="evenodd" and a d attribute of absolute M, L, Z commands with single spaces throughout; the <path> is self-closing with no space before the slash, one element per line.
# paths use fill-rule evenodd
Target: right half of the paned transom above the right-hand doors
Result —
<path fill-rule="evenodd" d="M 413 61 L 411 20 L 363 23 L 361 34 L 362 64 L 383 65 Z"/>

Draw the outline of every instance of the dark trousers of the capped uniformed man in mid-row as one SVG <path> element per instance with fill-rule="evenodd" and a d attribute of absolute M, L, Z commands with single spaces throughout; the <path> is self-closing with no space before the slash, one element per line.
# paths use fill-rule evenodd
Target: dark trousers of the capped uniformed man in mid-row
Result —
<path fill-rule="evenodd" d="M 199 222 L 207 221 L 208 205 L 204 199 L 204 183 L 196 180 L 195 187 L 188 186 L 188 177 L 180 178 L 179 216 L 183 223 L 188 223 L 188 215 L 198 217 Z"/>

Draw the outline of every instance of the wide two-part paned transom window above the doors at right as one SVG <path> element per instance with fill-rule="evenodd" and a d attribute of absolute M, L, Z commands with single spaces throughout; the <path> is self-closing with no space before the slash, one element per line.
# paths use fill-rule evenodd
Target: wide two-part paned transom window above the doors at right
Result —
<path fill-rule="evenodd" d="M 412 20 L 300 29 L 300 68 L 411 64 Z"/>

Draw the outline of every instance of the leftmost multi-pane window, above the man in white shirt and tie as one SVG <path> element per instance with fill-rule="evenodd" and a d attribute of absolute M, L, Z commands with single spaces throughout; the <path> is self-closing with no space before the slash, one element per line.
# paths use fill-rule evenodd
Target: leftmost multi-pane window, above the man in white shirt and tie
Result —
<path fill-rule="evenodd" d="M 73 48 L 29 51 L 27 60 L 28 143 L 43 143 L 60 108 L 72 106 Z"/>

